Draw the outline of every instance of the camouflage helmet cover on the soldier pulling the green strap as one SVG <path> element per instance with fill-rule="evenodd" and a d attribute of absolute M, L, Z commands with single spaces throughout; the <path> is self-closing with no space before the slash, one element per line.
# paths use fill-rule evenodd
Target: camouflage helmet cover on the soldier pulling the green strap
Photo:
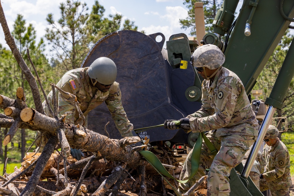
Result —
<path fill-rule="evenodd" d="M 194 67 L 217 69 L 225 62 L 225 55 L 215 45 L 206 44 L 198 47 L 193 53 Z"/>

